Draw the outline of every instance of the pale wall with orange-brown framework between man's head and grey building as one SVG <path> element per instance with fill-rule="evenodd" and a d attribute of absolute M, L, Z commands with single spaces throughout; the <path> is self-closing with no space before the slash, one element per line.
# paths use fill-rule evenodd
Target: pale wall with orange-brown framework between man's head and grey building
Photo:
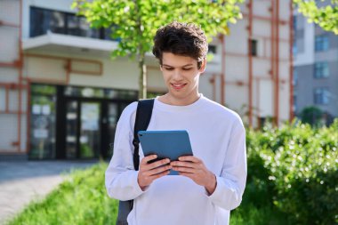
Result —
<path fill-rule="evenodd" d="M 239 112 L 247 125 L 281 125 L 293 118 L 292 11 L 291 1 L 245 1 L 243 20 L 230 26 L 218 46 L 215 99 Z"/>

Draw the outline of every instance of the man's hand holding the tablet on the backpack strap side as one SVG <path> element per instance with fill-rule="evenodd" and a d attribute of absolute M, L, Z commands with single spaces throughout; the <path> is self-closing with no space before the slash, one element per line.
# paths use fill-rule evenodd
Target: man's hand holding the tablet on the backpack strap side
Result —
<path fill-rule="evenodd" d="M 169 174 L 170 169 L 172 169 L 172 165 L 168 165 L 170 163 L 169 158 L 161 159 L 149 164 L 149 161 L 156 158 L 157 155 L 150 155 L 148 157 L 143 157 L 141 160 L 137 181 L 142 190 L 146 189 L 152 181 Z"/>

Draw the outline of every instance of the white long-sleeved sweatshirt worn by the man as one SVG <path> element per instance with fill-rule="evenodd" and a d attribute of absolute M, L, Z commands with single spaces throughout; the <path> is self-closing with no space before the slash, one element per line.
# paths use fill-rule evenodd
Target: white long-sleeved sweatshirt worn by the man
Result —
<path fill-rule="evenodd" d="M 237 114 L 204 96 L 188 106 L 155 100 L 148 130 L 187 130 L 195 157 L 216 175 L 211 196 L 180 175 L 153 181 L 142 191 L 133 169 L 133 125 L 137 102 L 125 108 L 118 123 L 114 155 L 106 172 L 109 197 L 134 199 L 130 225 L 229 224 L 245 189 L 245 128 Z M 144 157 L 140 147 L 140 159 Z"/>

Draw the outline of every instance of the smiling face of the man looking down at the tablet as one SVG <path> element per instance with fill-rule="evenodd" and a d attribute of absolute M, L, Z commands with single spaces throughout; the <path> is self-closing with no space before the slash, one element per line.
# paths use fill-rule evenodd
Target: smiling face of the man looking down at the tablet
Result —
<path fill-rule="evenodd" d="M 205 61 L 197 68 L 197 60 L 189 56 L 164 52 L 161 70 L 170 98 L 187 104 L 197 100 L 199 75 L 205 71 Z"/>

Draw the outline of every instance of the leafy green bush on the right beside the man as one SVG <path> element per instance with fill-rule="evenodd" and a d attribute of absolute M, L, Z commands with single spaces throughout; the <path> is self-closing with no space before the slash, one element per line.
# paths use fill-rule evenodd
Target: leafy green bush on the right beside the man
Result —
<path fill-rule="evenodd" d="M 247 132 L 244 203 L 271 205 L 291 224 L 338 222 L 338 120 Z"/>

